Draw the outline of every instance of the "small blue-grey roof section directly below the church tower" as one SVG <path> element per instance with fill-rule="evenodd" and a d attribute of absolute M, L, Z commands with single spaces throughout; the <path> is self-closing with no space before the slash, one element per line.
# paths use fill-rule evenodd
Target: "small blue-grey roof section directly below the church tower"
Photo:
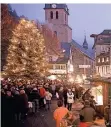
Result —
<path fill-rule="evenodd" d="M 69 58 L 70 56 L 70 48 L 71 48 L 71 43 L 68 42 L 61 42 L 61 49 L 65 50 L 65 57 Z"/>

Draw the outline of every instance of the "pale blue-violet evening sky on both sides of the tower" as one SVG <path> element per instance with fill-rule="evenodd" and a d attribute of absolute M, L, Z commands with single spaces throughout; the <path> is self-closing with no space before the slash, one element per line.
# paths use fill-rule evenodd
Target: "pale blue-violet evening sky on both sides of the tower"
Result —
<path fill-rule="evenodd" d="M 86 31 L 87 42 L 91 47 L 92 33 L 101 33 L 104 29 L 111 29 L 111 4 L 67 4 L 69 8 L 69 26 L 72 28 L 73 39 L 79 44 L 84 41 Z M 44 4 L 11 4 L 17 14 L 29 19 L 45 22 Z"/>

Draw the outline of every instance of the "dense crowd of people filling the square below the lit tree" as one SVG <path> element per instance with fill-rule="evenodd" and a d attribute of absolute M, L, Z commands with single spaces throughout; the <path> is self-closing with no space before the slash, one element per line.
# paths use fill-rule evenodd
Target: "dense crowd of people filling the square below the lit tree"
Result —
<path fill-rule="evenodd" d="M 51 80 L 5 79 L 1 82 L 2 127 L 15 127 L 18 122 L 23 123 L 29 113 L 36 114 L 41 109 L 50 110 L 52 98 L 58 100 L 59 108 L 54 112 L 57 127 L 60 127 L 60 120 L 67 111 L 72 110 L 72 105 L 77 100 L 84 105 L 81 110 L 82 117 L 80 116 L 82 121 L 90 122 L 97 115 L 96 102 L 90 89 L 85 91 L 82 87 Z M 101 117 L 100 114 L 98 116 Z"/>

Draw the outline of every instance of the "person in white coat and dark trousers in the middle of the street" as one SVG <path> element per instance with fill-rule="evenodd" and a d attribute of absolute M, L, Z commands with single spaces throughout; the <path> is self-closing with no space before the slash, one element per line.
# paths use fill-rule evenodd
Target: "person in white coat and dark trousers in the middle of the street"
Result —
<path fill-rule="evenodd" d="M 74 103 L 74 94 L 71 91 L 71 89 L 69 89 L 68 92 L 67 92 L 67 103 L 68 103 L 68 110 L 71 111 L 72 104 Z"/>

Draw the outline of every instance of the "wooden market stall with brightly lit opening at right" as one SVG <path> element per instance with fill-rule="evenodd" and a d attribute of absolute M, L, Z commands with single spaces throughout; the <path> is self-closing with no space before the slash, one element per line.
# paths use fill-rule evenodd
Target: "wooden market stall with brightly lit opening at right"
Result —
<path fill-rule="evenodd" d="M 111 98 L 111 78 L 92 78 L 92 94 L 97 102 L 97 109 L 104 114 L 104 107 L 108 105 Z"/>

